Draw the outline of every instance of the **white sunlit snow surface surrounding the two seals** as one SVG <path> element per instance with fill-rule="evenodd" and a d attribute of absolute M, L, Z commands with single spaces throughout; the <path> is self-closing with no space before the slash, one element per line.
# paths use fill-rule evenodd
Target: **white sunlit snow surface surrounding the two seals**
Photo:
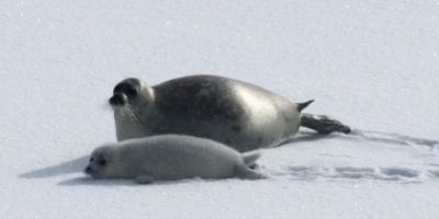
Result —
<path fill-rule="evenodd" d="M 1 218 L 438 218 L 437 0 L 0 2 Z M 126 77 L 249 81 L 356 128 L 263 151 L 262 181 L 91 181 Z"/>

